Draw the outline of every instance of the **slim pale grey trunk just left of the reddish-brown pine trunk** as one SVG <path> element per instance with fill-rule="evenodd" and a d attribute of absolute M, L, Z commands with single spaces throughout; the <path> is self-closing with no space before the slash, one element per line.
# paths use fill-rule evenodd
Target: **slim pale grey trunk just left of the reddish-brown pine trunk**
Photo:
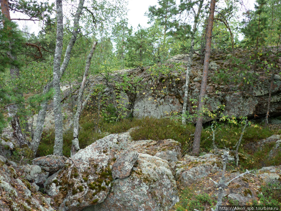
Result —
<path fill-rule="evenodd" d="M 185 96 L 183 101 L 183 107 L 182 107 L 182 124 L 186 124 L 186 107 L 187 107 L 187 101 L 188 101 L 188 86 L 189 86 L 189 78 L 190 78 L 190 70 L 191 70 L 191 64 L 192 64 L 192 56 L 193 56 L 193 48 L 194 48 L 194 37 L 197 30 L 197 22 L 199 18 L 199 14 L 201 11 L 203 5 L 203 0 L 200 1 L 200 5 L 198 8 L 197 14 L 195 14 L 194 24 L 193 24 L 193 30 L 191 35 L 191 44 L 190 44 L 190 53 L 188 57 L 188 63 L 186 68 L 186 79 L 185 79 Z"/>

